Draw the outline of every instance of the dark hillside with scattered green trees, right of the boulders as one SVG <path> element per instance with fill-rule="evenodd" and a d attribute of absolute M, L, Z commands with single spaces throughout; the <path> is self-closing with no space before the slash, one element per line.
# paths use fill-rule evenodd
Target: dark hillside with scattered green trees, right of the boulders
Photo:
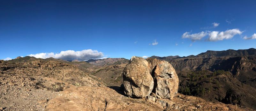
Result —
<path fill-rule="evenodd" d="M 177 71 L 179 93 L 255 109 L 255 88 L 240 82 L 232 73 L 218 70 Z"/>

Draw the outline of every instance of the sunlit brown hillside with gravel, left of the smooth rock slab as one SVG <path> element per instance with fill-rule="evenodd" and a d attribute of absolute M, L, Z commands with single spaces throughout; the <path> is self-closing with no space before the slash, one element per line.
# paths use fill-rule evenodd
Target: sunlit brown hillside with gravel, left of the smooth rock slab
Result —
<path fill-rule="evenodd" d="M 0 61 L 0 111 L 42 111 L 58 92 L 75 86 L 96 87 L 104 83 L 53 58 Z"/>

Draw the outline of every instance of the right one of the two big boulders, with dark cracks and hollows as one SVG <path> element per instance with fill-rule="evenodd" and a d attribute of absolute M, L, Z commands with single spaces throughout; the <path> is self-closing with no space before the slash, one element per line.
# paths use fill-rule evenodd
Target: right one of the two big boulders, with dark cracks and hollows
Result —
<path fill-rule="evenodd" d="M 154 90 L 162 98 L 172 99 L 178 91 L 179 78 L 175 69 L 167 61 L 156 64 L 152 71 L 154 77 Z"/>

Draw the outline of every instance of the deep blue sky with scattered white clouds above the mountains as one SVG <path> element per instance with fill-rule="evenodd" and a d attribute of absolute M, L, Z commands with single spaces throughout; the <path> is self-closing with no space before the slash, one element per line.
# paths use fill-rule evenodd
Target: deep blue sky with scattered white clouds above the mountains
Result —
<path fill-rule="evenodd" d="M 0 59 L 189 56 L 256 48 L 254 33 L 255 0 L 0 1 Z"/>

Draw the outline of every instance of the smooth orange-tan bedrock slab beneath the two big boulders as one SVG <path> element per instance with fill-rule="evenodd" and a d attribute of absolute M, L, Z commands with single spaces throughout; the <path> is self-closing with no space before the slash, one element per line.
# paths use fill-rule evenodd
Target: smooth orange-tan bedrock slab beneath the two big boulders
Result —
<path fill-rule="evenodd" d="M 170 99 L 133 99 L 122 95 L 117 88 L 68 88 L 47 102 L 48 111 L 249 111 L 235 105 L 208 102 L 199 97 L 180 95 Z M 156 102 L 154 102 L 156 101 Z"/>

